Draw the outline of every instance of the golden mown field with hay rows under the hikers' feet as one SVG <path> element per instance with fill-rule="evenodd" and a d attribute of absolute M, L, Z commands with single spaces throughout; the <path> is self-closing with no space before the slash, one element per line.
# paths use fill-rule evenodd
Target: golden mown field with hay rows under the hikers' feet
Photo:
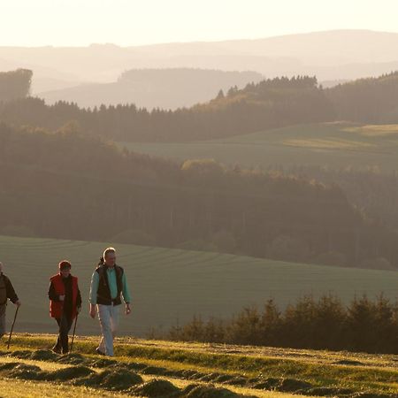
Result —
<path fill-rule="evenodd" d="M 78 338 L 69 356 L 43 350 L 52 341 L 49 335 L 19 334 L 11 351 L 1 350 L 0 342 L 2 396 L 381 398 L 398 393 L 396 356 L 119 339 L 110 360 L 92 354 L 96 341 L 90 337 Z M 174 392 L 166 394 L 165 387 Z"/>

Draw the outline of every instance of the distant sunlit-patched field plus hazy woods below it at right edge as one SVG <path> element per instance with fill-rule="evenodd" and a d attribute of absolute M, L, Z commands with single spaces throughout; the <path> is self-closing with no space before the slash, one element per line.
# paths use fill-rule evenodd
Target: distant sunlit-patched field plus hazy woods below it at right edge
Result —
<path fill-rule="evenodd" d="M 288 126 L 210 142 L 119 142 L 126 148 L 184 159 L 212 158 L 337 185 L 367 217 L 398 228 L 398 125 L 349 122 Z"/>

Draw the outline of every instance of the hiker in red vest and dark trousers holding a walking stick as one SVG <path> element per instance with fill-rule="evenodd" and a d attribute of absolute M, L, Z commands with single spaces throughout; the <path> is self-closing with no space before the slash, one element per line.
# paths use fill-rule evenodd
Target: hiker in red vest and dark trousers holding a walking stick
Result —
<path fill-rule="evenodd" d="M 78 279 L 72 276 L 71 268 L 72 264 L 63 260 L 58 264 L 57 275 L 50 278 L 50 316 L 59 326 L 57 343 L 52 350 L 57 354 L 69 352 L 68 333 L 81 308 Z"/>

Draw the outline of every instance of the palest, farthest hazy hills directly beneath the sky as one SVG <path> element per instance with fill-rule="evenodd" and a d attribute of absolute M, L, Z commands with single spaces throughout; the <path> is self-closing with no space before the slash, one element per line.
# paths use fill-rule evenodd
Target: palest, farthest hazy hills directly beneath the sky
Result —
<path fill-rule="evenodd" d="M 0 70 L 32 69 L 40 76 L 34 82 L 34 94 L 73 87 L 79 82 L 109 83 L 133 68 L 250 70 L 270 78 L 316 74 L 319 80 L 352 80 L 397 69 L 397 43 L 398 34 L 394 33 L 336 30 L 256 40 L 137 47 L 1 47 Z"/>

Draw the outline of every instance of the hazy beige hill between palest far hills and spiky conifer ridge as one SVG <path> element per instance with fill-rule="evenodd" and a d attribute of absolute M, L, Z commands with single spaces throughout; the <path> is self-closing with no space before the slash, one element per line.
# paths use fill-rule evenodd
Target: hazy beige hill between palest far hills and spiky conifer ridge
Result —
<path fill-rule="evenodd" d="M 73 88 L 36 93 L 46 103 L 77 103 L 80 107 L 134 103 L 137 107 L 172 109 L 210 101 L 220 89 L 243 88 L 263 76 L 254 72 L 203 69 L 142 69 L 122 73 L 111 83 L 86 83 Z"/>

